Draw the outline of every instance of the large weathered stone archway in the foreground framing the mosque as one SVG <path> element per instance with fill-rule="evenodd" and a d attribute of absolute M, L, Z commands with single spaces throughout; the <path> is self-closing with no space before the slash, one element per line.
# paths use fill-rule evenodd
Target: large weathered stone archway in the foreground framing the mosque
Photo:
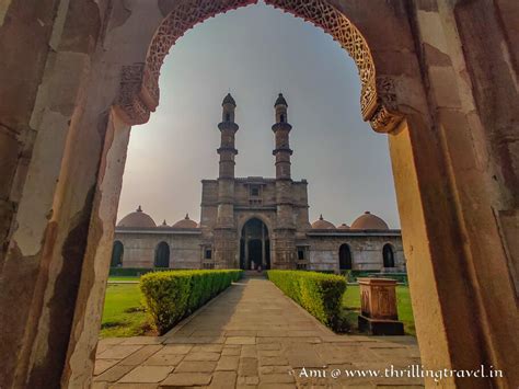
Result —
<path fill-rule="evenodd" d="M 9 54 L 0 66 L 10 75 L 0 83 L 1 146 L 9 150 L 0 176 L 0 311 L 8 312 L 0 322 L 7 356 L 0 386 L 84 387 L 130 126 L 146 121 L 158 102 L 148 88 L 152 75 L 145 71 L 149 44 L 175 7 L 203 16 L 192 20 L 184 12 L 174 23 L 184 32 L 247 2 L 214 1 L 210 8 L 194 0 L 56 0 L 31 12 L 20 3 L 11 0 L 0 13 L 0 47 Z M 337 22 L 327 18 L 332 7 L 368 43 L 376 72 L 362 87 L 362 96 L 371 96 L 362 98 L 362 106 L 371 107 L 362 114 L 376 130 L 391 133 L 423 362 L 432 369 L 498 366 L 505 381 L 492 385 L 514 386 L 514 5 L 395 0 L 373 10 L 368 1 L 269 3 L 316 25 Z M 477 24 L 483 16 L 485 28 Z M 330 26 L 345 22 L 337 23 Z M 362 53 L 354 42 L 353 53 Z M 498 123 L 485 107 L 496 101 Z M 5 309 L 12 304 L 15 314 Z M 446 385 L 453 384 L 491 385 Z"/>

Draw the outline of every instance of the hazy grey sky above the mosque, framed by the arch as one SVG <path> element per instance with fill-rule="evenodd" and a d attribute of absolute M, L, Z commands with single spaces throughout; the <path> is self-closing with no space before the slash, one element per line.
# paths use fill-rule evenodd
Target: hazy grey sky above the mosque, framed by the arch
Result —
<path fill-rule="evenodd" d="M 131 130 L 118 219 L 142 205 L 157 224 L 199 220 L 203 179 L 218 176 L 221 101 L 237 108 L 237 176 L 275 176 L 274 102 L 288 101 L 292 178 L 309 181 L 310 221 L 348 225 L 365 210 L 400 221 L 387 136 L 360 117 L 348 54 L 322 30 L 265 4 L 188 31 L 168 56 L 160 106 Z"/>

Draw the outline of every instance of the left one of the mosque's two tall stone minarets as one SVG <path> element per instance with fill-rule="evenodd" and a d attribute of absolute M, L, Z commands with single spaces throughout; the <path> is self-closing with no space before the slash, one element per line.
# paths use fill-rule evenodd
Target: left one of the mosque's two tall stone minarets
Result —
<path fill-rule="evenodd" d="M 218 125 L 221 144 L 220 172 L 218 175 L 218 216 L 215 228 L 215 265 L 217 268 L 238 266 L 237 231 L 234 226 L 234 136 L 239 126 L 234 123 L 237 103 L 229 93 L 222 102 L 222 122 Z"/>

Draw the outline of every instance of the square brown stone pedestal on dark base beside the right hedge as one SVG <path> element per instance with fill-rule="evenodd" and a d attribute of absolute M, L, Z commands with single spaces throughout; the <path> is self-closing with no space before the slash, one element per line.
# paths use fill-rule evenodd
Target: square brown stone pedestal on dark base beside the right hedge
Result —
<path fill-rule="evenodd" d="M 396 281 L 385 278 L 358 278 L 361 314 L 359 330 L 373 335 L 403 335 L 404 324 L 396 311 Z"/>

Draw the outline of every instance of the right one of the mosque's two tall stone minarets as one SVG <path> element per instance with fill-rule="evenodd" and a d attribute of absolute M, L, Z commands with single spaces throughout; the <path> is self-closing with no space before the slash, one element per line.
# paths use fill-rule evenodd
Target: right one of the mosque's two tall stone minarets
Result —
<path fill-rule="evenodd" d="M 281 93 L 274 104 L 275 121 L 273 131 L 276 137 L 276 227 L 273 239 L 274 263 L 276 268 L 296 266 L 296 227 L 292 204 L 292 179 L 290 174 L 289 134 L 292 126 L 288 124 L 288 104 Z"/>

